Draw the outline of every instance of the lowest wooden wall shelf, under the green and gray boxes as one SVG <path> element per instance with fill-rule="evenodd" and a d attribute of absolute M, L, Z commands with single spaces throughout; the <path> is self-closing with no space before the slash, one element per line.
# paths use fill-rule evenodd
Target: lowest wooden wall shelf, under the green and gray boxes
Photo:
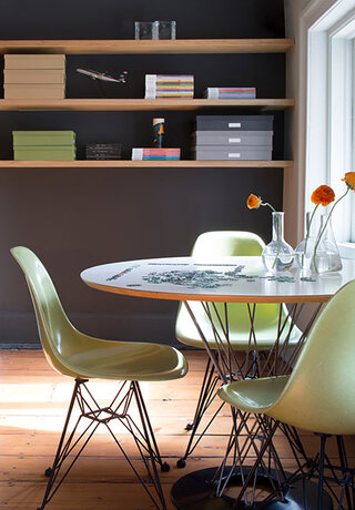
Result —
<path fill-rule="evenodd" d="M 293 161 L 0 161 L 1 169 L 292 169 Z"/>

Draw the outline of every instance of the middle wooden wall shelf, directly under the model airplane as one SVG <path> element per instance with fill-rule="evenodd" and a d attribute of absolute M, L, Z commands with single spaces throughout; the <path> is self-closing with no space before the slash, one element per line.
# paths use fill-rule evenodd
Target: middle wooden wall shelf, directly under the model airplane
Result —
<path fill-rule="evenodd" d="M 201 110 L 207 108 L 256 108 L 285 110 L 294 106 L 293 99 L 60 99 L 60 100 L 0 100 L 0 111 L 143 111 Z"/>

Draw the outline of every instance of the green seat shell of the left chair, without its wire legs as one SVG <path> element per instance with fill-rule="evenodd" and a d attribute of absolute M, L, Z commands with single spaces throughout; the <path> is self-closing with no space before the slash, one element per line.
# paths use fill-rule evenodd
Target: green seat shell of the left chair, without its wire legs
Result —
<path fill-rule="evenodd" d="M 112 341 L 80 333 L 67 317 L 41 261 L 27 247 L 11 254 L 21 266 L 32 297 L 41 344 L 49 364 L 74 378 L 159 381 L 187 373 L 184 356 L 173 347 L 140 341 Z"/>

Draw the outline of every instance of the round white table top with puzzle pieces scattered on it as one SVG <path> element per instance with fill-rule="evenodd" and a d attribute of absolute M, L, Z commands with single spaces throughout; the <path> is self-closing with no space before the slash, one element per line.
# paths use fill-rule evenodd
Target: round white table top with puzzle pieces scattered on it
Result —
<path fill-rule="evenodd" d="M 100 290 L 158 299 L 321 303 L 355 278 L 355 261 L 343 261 L 337 273 L 271 275 L 261 257 L 149 258 L 90 267 L 81 278 Z"/>

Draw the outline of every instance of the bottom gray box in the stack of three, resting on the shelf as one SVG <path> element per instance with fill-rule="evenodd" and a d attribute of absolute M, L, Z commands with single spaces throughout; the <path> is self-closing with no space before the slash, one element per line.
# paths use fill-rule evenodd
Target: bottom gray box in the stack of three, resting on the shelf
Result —
<path fill-rule="evenodd" d="M 231 147 L 224 145 L 197 145 L 192 151 L 195 160 L 271 160 L 272 147 L 271 146 L 241 146 Z"/>

